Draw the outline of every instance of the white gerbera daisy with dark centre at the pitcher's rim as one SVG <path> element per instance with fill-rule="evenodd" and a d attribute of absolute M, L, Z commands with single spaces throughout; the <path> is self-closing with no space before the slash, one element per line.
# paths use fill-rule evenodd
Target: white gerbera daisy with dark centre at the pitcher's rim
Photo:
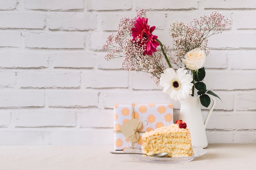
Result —
<path fill-rule="evenodd" d="M 179 101 L 192 94 L 192 80 L 192 76 L 184 68 L 177 69 L 176 73 L 173 68 L 167 68 L 161 74 L 159 85 L 164 87 L 163 92 L 168 93 L 171 99 Z"/>

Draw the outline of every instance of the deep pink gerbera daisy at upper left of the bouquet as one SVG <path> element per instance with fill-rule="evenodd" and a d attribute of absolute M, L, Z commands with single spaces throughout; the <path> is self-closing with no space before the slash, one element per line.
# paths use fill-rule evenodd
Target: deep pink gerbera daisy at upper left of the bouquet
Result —
<path fill-rule="evenodd" d="M 155 30 L 155 26 L 148 25 L 148 18 L 138 18 L 132 28 L 132 37 L 134 41 L 138 41 L 141 45 L 144 46 L 143 55 L 152 55 L 153 52 L 156 52 L 157 46 L 159 43 L 156 41 L 157 36 L 153 35 L 152 32 Z"/>

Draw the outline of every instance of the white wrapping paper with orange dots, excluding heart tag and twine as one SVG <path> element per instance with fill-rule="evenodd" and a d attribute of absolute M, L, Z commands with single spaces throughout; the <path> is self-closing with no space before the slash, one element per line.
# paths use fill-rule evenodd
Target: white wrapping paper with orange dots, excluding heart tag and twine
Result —
<path fill-rule="evenodd" d="M 173 124 L 173 104 L 135 104 L 133 118 L 141 119 L 143 126 L 139 131 L 151 131 L 162 126 Z M 125 139 L 120 132 L 120 126 L 132 118 L 131 104 L 116 104 L 114 106 L 114 147 L 115 150 L 124 150 L 131 146 L 131 142 Z M 139 140 L 134 147 L 142 145 L 143 133 L 139 132 Z"/>

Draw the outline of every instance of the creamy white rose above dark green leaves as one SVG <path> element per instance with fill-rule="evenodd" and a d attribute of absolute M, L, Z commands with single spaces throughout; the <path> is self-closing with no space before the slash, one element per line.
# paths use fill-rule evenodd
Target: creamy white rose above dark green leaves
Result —
<path fill-rule="evenodd" d="M 186 68 L 191 70 L 198 70 L 202 68 L 206 59 L 206 54 L 201 49 L 193 49 L 186 53 L 185 59 L 182 62 L 186 65 Z"/>

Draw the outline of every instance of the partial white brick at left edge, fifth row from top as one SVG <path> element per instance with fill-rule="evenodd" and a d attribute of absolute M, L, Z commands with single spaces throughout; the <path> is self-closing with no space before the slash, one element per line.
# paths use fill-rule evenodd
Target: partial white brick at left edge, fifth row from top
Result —
<path fill-rule="evenodd" d="M 0 72 L 0 87 L 14 87 L 16 80 L 16 73 L 13 71 Z"/>

